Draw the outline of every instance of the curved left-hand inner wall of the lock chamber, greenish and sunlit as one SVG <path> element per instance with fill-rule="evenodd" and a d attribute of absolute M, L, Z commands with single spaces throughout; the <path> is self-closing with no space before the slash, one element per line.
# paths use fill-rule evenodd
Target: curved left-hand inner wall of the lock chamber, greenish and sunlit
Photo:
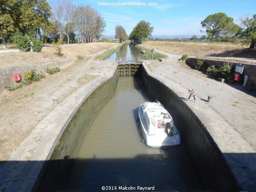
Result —
<path fill-rule="evenodd" d="M 84 134 L 101 108 L 113 97 L 118 82 L 118 70 L 94 90 L 76 111 L 55 146 L 36 191 L 55 191 L 65 181 Z"/>

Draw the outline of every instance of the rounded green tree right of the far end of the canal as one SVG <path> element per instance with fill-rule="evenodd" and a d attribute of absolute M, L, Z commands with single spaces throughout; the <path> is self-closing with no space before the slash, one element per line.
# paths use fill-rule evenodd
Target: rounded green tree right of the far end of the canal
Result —
<path fill-rule="evenodd" d="M 144 39 L 151 37 L 154 27 L 150 27 L 149 21 L 141 20 L 135 28 L 133 28 L 129 39 L 142 43 Z"/>

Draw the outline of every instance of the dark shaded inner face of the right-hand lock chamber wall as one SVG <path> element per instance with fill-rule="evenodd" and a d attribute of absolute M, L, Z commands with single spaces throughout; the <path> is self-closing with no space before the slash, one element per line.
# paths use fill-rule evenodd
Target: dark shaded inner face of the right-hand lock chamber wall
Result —
<path fill-rule="evenodd" d="M 210 191 L 239 191 L 234 175 L 205 125 L 175 92 L 149 73 L 143 65 L 141 77 L 148 95 L 158 99 L 174 118 L 205 188 Z"/>

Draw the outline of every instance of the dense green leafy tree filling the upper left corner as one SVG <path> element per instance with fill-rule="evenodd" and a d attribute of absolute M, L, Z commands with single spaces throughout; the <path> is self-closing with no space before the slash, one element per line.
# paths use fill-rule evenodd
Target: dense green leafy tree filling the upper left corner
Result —
<path fill-rule="evenodd" d="M 51 15 L 46 0 L 0 0 L 0 37 L 6 48 L 6 38 L 14 31 L 24 35 L 39 35 L 47 28 Z"/>

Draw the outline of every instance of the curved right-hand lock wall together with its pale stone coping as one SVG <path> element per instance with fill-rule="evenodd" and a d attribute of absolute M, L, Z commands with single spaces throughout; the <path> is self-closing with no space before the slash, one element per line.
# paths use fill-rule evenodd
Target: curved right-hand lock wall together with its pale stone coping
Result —
<path fill-rule="evenodd" d="M 202 108 L 194 103 L 188 104 L 184 98 L 187 90 L 161 74 L 152 73 L 145 64 L 141 68 L 141 77 L 148 95 L 162 103 L 173 116 L 206 191 L 252 191 L 255 182 L 250 175 L 254 170 L 249 166 L 246 170 L 242 167 L 247 163 L 253 164 L 255 154 L 239 152 L 233 145 L 235 142 L 245 148 L 248 144 L 225 122 L 222 124 L 226 125 L 226 130 L 218 127 L 216 119 L 219 121 L 222 117 L 207 104 L 200 106 Z M 225 131 L 236 135 L 236 138 L 224 138 Z M 248 149 L 253 151 L 249 146 Z"/>

